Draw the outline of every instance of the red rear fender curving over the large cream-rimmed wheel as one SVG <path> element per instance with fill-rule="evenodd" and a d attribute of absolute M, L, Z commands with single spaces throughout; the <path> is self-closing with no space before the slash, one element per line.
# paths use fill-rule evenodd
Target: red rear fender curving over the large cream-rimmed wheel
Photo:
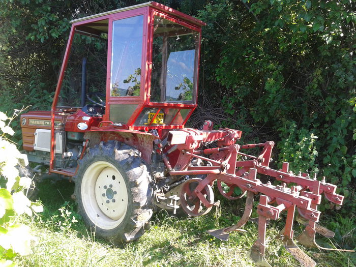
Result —
<path fill-rule="evenodd" d="M 92 130 L 84 134 L 84 139 L 90 140 L 89 147 L 101 141 L 115 140 L 130 145 L 141 152 L 141 158 L 147 163 L 152 162 L 153 142 L 157 136 L 134 130 Z"/>

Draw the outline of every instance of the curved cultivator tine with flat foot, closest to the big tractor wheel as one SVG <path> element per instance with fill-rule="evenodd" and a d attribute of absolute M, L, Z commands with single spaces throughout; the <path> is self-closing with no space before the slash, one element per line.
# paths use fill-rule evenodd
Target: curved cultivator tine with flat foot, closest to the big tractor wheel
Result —
<path fill-rule="evenodd" d="M 232 232 L 232 231 L 246 232 L 246 230 L 243 230 L 240 228 L 248 222 L 248 220 L 251 216 L 252 207 L 253 207 L 253 197 L 254 197 L 254 193 L 251 191 L 248 191 L 247 197 L 246 197 L 245 211 L 238 223 L 236 223 L 233 226 L 227 227 L 227 228 L 207 230 L 206 232 L 213 235 L 215 238 L 223 240 L 223 241 L 227 241 L 229 239 L 229 235 L 230 235 L 229 232 Z"/>

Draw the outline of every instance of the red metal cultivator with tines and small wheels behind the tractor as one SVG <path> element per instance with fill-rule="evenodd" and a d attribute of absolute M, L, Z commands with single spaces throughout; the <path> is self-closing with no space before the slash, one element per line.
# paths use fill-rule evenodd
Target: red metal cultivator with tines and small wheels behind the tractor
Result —
<path fill-rule="evenodd" d="M 269 163 L 274 142 L 235 144 L 240 137 L 241 131 L 226 128 L 212 130 L 212 123 L 209 121 L 205 122 L 203 130 L 182 129 L 169 132 L 167 142 L 170 148 L 161 150 L 170 175 L 206 175 L 203 179 L 190 179 L 183 184 L 180 195 L 182 208 L 191 216 L 209 212 L 215 204 L 212 191 L 215 182 L 219 192 L 228 199 L 239 199 L 246 195 L 245 211 L 238 223 L 208 231 L 216 238 L 227 241 L 230 232 L 244 231 L 241 227 L 251 216 L 254 195 L 260 194 L 257 205 L 259 217 L 253 219 L 258 223 L 258 239 L 251 248 L 251 258 L 259 266 L 270 266 L 264 259 L 266 226 L 270 220 L 277 220 L 282 212 L 286 212 L 286 224 L 277 239 L 303 266 L 315 266 L 314 260 L 293 242 L 295 210 L 299 214 L 298 220 L 306 225 L 298 241 L 306 247 L 324 249 L 316 244 L 315 233 L 319 232 L 328 237 L 332 237 L 334 233 L 317 224 L 320 217 L 317 206 L 321 202 L 321 195 L 337 205 L 342 204 L 344 197 L 337 194 L 337 187 L 326 183 L 324 177 L 318 181 L 316 175 L 310 178 L 308 173 L 294 174 L 289 170 L 287 162 L 283 163 L 282 169 L 271 169 Z M 199 150 L 202 145 L 213 141 L 216 141 L 218 147 Z M 258 156 L 241 152 L 255 147 L 262 148 Z M 171 166 L 167 157 L 176 150 L 179 151 L 179 156 L 175 165 Z M 241 156 L 245 160 L 239 160 Z M 206 164 L 193 166 L 190 164 L 193 159 L 199 159 Z M 281 181 L 281 184 L 275 186 L 271 182 L 262 183 L 257 179 L 257 174 L 274 177 L 275 180 Z M 287 184 L 291 183 L 293 185 L 287 187 Z M 240 188 L 240 195 L 235 195 L 236 187 Z"/>

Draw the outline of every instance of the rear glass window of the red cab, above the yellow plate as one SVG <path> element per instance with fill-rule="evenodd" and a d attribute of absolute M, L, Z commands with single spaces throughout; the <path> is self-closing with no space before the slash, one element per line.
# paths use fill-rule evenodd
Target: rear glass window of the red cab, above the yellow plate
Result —
<path fill-rule="evenodd" d="M 193 102 L 199 34 L 155 16 L 151 102 Z"/>

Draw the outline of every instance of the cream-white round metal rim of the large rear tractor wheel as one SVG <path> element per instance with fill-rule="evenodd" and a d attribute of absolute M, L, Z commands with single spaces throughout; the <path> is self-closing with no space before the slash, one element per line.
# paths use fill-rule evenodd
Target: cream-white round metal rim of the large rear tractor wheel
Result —
<path fill-rule="evenodd" d="M 124 177 L 106 161 L 91 164 L 81 182 L 81 199 L 89 219 L 102 229 L 113 229 L 124 220 L 128 194 Z"/>

